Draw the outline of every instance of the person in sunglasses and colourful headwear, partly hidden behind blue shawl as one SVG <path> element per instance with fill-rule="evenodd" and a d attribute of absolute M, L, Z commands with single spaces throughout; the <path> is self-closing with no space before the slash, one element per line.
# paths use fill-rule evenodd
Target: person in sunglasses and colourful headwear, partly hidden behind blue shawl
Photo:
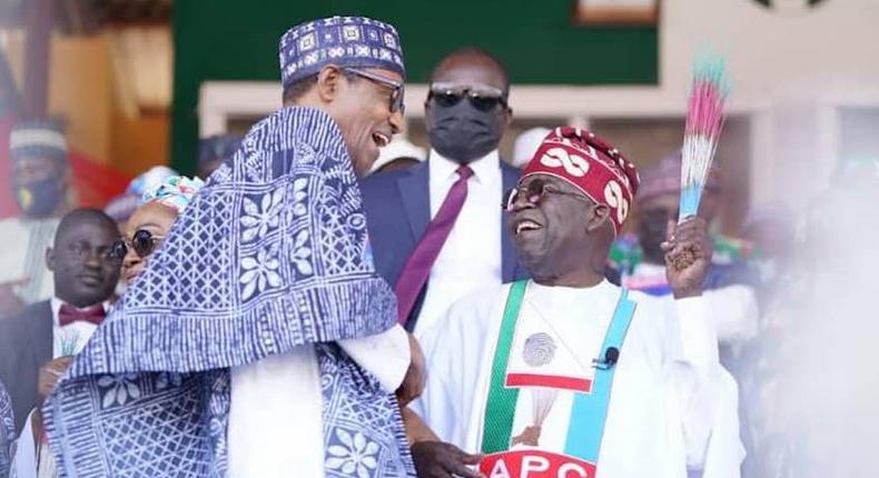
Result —
<path fill-rule="evenodd" d="M 204 185 L 198 178 L 172 176 L 144 193 L 142 205 L 128 220 L 125 237 L 113 248 L 117 257 L 122 258 L 122 280 L 127 286 L 144 271 L 149 256 Z"/>

